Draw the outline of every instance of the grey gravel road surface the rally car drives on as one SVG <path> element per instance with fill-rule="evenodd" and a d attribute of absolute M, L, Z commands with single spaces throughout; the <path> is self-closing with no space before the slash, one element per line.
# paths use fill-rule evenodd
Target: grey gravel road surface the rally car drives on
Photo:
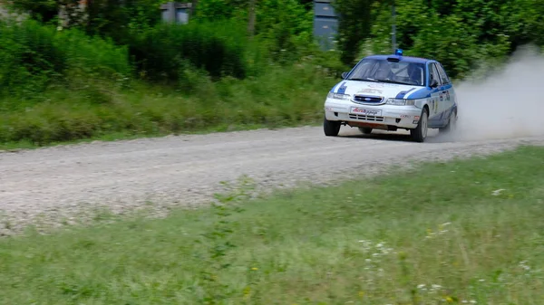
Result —
<path fill-rule="evenodd" d="M 197 205 L 221 191 L 220 181 L 248 175 L 263 189 L 324 184 L 375 174 L 411 160 L 488 154 L 544 137 L 414 143 L 406 133 L 362 135 L 344 127 L 328 138 L 321 128 L 256 130 L 211 135 L 94 142 L 0 153 L 0 233 L 24 224 L 59 223 L 106 205 L 115 213 L 149 205 Z M 68 221 L 68 223 L 70 223 Z"/>

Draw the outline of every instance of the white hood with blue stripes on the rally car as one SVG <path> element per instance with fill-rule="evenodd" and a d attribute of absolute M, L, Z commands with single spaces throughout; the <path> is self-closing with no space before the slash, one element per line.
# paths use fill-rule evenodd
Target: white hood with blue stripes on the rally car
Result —
<path fill-rule="evenodd" d="M 384 97 L 384 99 L 403 99 L 410 93 L 424 87 L 401 85 L 396 83 L 374 82 L 374 81 L 340 81 L 333 91 L 335 93 L 355 94 Z"/>

